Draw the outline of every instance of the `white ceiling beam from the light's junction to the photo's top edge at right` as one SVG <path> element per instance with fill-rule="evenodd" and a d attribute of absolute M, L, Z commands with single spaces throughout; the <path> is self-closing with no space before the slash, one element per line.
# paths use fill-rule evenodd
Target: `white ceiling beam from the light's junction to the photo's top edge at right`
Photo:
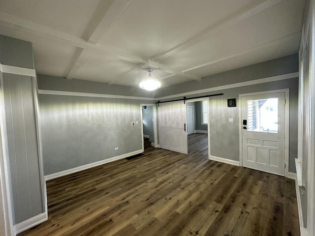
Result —
<path fill-rule="evenodd" d="M 254 4 L 250 5 L 249 7 L 246 7 L 242 9 L 241 11 L 232 14 L 230 16 L 227 16 L 220 20 L 219 22 L 210 25 L 209 27 L 203 29 L 202 31 L 196 33 L 193 35 L 191 38 L 186 40 L 185 42 L 182 42 L 181 44 L 176 45 L 175 47 L 162 52 L 154 57 L 151 58 L 153 61 L 160 61 L 165 58 L 168 58 L 175 53 L 179 51 L 179 49 L 187 48 L 191 46 L 192 44 L 201 41 L 204 39 L 206 36 L 209 35 L 209 33 L 215 34 L 218 30 L 226 29 L 228 27 L 231 27 L 241 21 L 244 21 L 253 15 L 277 4 L 278 2 L 281 2 L 282 0 L 265 0 L 264 2 L 261 1 L 256 1 Z"/>

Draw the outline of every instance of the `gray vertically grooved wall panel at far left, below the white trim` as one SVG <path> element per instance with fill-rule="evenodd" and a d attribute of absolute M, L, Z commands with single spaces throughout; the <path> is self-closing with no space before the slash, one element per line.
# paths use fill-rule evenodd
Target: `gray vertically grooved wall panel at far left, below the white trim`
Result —
<path fill-rule="evenodd" d="M 3 74 L 15 224 L 44 212 L 32 83 L 29 76 Z"/>

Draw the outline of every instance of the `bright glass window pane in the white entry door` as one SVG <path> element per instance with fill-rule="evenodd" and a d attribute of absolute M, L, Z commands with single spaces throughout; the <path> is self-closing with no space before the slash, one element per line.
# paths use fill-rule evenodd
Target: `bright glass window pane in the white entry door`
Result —
<path fill-rule="evenodd" d="M 247 101 L 247 131 L 278 133 L 278 98 Z"/>

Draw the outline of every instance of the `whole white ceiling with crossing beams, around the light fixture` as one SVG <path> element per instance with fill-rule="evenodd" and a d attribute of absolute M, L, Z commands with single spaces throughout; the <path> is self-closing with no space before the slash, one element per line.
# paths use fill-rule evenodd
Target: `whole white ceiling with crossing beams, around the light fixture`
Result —
<path fill-rule="evenodd" d="M 0 0 L 39 74 L 162 87 L 298 52 L 304 0 Z"/>

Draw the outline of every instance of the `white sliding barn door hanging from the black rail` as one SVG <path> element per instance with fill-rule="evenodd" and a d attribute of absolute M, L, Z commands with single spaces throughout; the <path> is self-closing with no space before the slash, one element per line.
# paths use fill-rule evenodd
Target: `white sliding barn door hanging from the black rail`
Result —
<path fill-rule="evenodd" d="M 188 153 L 184 101 L 159 104 L 158 129 L 160 148 Z"/>

